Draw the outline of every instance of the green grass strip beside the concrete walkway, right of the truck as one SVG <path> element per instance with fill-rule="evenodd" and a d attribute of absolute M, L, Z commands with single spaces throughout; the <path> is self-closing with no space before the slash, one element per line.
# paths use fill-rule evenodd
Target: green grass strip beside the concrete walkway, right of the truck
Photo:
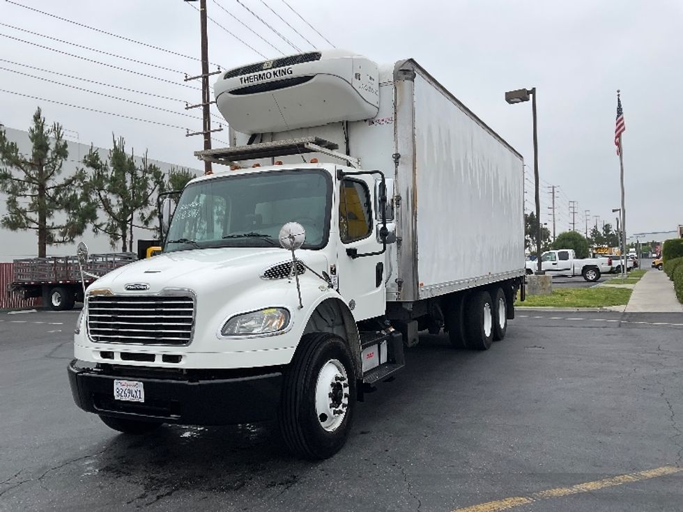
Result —
<path fill-rule="evenodd" d="M 552 295 L 527 295 L 517 306 L 531 307 L 605 307 L 622 306 L 629 303 L 633 290 L 597 286 L 595 288 L 558 288 Z"/>

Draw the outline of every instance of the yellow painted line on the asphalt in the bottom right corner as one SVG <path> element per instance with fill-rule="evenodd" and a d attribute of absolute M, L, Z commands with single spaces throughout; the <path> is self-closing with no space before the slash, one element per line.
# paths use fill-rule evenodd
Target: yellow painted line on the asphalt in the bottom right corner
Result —
<path fill-rule="evenodd" d="M 541 499 L 559 498 L 578 494 L 578 492 L 589 492 L 600 490 L 607 487 L 621 486 L 624 483 L 637 482 L 666 476 L 683 471 L 683 467 L 663 466 L 655 470 L 640 471 L 637 473 L 620 474 L 608 479 L 594 480 L 592 482 L 577 483 L 576 486 L 558 487 L 554 489 L 534 492 L 528 496 L 516 496 L 504 499 L 497 499 L 495 502 L 486 502 L 478 505 L 467 506 L 464 509 L 456 509 L 453 512 L 498 512 L 512 509 L 515 506 L 528 505 Z"/>

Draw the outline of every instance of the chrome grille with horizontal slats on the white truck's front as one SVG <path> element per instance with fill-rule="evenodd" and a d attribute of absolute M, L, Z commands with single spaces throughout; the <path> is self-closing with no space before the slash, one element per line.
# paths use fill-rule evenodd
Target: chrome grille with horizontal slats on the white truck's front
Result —
<path fill-rule="evenodd" d="M 194 300 L 176 295 L 88 297 L 88 334 L 103 343 L 187 345 Z"/>

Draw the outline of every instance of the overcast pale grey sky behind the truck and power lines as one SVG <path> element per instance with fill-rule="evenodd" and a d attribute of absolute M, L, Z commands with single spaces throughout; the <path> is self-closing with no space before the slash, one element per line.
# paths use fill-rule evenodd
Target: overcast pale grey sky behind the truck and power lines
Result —
<path fill-rule="evenodd" d="M 312 49 L 312 45 L 330 47 L 283 0 L 208 0 L 209 16 L 244 41 L 209 22 L 213 63 L 232 68 L 263 61 L 263 56 L 270 59 L 299 53 L 257 20 L 240 1 L 302 51 Z M 581 226 L 581 231 L 585 226 L 585 210 L 590 210 L 591 225 L 596 220 L 593 215 L 599 215 L 600 223 L 614 222 L 615 214 L 611 210 L 620 206 L 619 159 L 613 143 L 616 91 L 620 88 L 627 127 L 624 133 L 627 230 L 629 233 L 671 231 L 677 224 L 683 224 L 682 166 L 675 156 L 683 134 L 679 91 L 683 83 L 683 38 L 680 37 L 683 2 L 680 0 L 288 2 L 336 47 L 364 54 L 378 63 L 412 57 L 422 64 L 524 155 L 529 166 L 528 187 L 532 187 L 533 178 L 531 105 L 509 105 L 503 95 L 511 89 L 536 86 L 542 218 L 550 222 L 550 216 L 546 215 L 551 211 L 548 185 L 558 185 L 555 200 L 558 233 L 569 228 L 569 201 L 578 201 L 576 227 Z M 201 139 L 185 137 L 185 128 L 201 130 L 199 119 L 187 117 L 200 116 L 201 111 L 185 111 L 183 104 L 183 101 L 201 100 L 199 90 L 190 88 L 199 87 L 199 82 L 183 82 L 185 72 L 189 75 L 201 72 L 197 60 L 82 28 L 22 8 L 17 3 L 197 58 L 199 15 L 192 7 L 195 3 L 183 0 L 1 1 L 0 89 L 43 100 L 0 91 L 0 123 L 26 130 L 33 111 L 40 105 L 47 120 L 59 121 L 71 139 L 108 148 L 113 133 L 125 137 L 127 146 L 135 148 L 136 153 L 147 149 L 154 159 L 201 167 L 192 155 L 194 150 L 201 149 Z M 144 63 L 125 61 L 45 36 Z M 109 85 L 93 84 L 81 78 Z M 46 80 L 151 104 L 173 113 Z M 124 91 L 112 85 L 172 99 Z M 47 100 L 175 127 L 98 114 Z M 217 121 L 220 114 L 217 109 L 213 112 Z M 226 145 L 227 131 L 215 135 L 218 140 L 214 141 L 214 147 Z M 532 208 L 531 189 L 526 209 Z"/>

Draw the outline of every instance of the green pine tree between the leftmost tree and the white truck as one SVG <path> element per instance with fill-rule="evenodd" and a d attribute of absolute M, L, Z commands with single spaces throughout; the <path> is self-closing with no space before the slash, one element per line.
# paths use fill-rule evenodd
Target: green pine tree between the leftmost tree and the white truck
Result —
<path fill-rule="evenodd" d="M 91 147 L 83 163 L 91 169 L 89 189 L 107 215 L 105 222 L 95 222 L 95 233 L 107 234 L 112 247 L 121 240 L 121 250 L 132 251 L 133 228 L 153 229 L 149 225 L 157 212 L 152 197 L 164 189 L 164 174 L 148 163 L 147 153 L 137 164 L 134 153 L 125 153 L 123 137 L 113 137 L 108 160 Z"/>

